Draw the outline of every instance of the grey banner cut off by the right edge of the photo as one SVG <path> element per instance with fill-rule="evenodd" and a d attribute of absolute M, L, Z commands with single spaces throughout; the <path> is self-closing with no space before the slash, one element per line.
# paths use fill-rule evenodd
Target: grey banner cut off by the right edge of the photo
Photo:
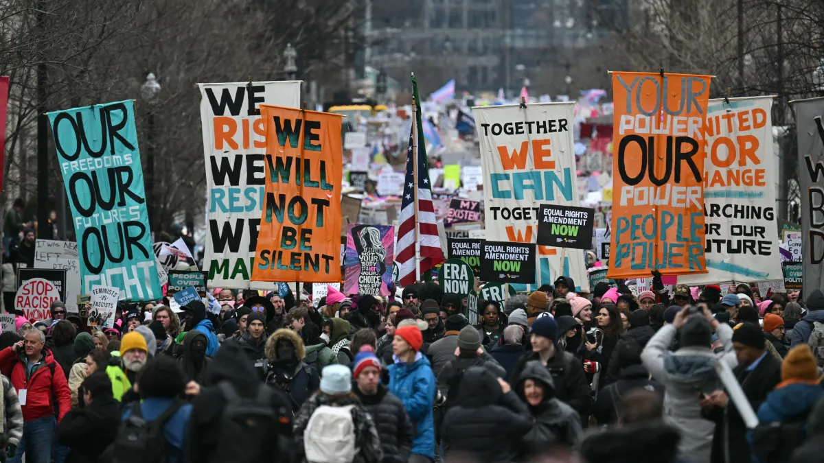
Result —
<path fill-rule="evenodd" d="M 798 136 L 803 273 L 807 288 L 824 286 L 824 98 L 793 102 Z"/>

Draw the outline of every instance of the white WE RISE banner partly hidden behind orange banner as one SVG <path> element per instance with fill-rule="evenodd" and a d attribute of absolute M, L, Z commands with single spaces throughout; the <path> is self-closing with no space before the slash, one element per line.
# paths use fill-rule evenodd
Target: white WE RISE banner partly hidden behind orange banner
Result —
<path fill-rule="evenodd" d="M 270 283 L 250 282 L 265 192 L 266 126 L 260 104 L 297 108 L 301 83 L 199 87 L 208 216 L 204 270 L 209 286 L 272 289 Z"/>

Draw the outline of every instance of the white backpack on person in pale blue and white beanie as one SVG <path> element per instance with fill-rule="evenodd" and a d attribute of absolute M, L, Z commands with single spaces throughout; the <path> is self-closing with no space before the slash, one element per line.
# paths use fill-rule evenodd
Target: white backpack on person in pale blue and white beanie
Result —
<path fill-rule="evenodd" d="M 303 433 L 303 451 L 309 463 L 351 463 L 355 448 L 354 405 L 321 405 L 311 414 Z"/>

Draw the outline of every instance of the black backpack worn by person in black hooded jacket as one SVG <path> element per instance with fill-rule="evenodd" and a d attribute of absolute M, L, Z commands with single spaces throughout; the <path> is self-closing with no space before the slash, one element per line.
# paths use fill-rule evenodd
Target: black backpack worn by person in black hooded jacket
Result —
<path fill-rule="evenodd" d="M 272 451 L 272 429 L 279 426 L 279 414 L 286 414 L 286 410 L 273 409 L 274 391 L 260 384 L 255 397 L 241 397 L 229 381 L 217 386 L 226 400 L 218 435 L 226 438 L 220 439 L 214 455 L 232 456 L 237 463 L 267 461 Z"/>

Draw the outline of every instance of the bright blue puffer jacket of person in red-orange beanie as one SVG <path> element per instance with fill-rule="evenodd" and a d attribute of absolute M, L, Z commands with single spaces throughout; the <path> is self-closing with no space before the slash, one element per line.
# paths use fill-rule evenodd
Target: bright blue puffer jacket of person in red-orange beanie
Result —
<path fill-rule="evenodd" d="M 414 362 L 397 362 L 389 366 L 389 391 L 403 403 L 415 426 L 412 453 L 435 458 L 435 423 L 432 407 L 437 390 L 435 375 L 422 354 Z"/>

